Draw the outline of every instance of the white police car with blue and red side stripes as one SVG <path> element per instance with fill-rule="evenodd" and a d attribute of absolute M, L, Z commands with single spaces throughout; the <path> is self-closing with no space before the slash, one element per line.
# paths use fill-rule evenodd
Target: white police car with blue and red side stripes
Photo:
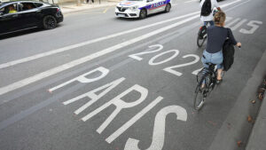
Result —
<path fill-rule="evenodd" d="M 115 15 L 122 18 L 145 19 L 156 12 L 169 12 L 171 0 L 128 0 L 116 5 Z"/>

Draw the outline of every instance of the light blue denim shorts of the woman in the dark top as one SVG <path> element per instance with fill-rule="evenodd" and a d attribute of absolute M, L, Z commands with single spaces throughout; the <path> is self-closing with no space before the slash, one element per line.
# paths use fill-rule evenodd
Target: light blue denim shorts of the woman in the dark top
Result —
<path fill-rule="evenodd" d="M 223 68 L 223 51 L 218 51 L 216 53 L 208 53 L 206 50 L 203 51 L 203 56 L 201 62 L 204 67 L 208 67 L 206 63 L 213 63 L 217 65 L 217 69 Z"/>

